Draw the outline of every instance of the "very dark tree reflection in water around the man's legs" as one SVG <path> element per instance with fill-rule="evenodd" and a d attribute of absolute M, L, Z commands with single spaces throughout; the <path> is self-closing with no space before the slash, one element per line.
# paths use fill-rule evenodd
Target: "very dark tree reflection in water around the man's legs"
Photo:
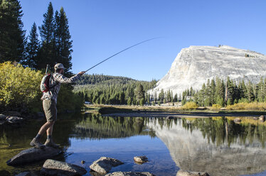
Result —
<path fill-rule="evenodd" d="M 60 143 L 60 145 L 69 146 L 68 136 L 70 133 L 73 133 L 73 126 L 75 126 L 77 119 L 80 117 L 81 114 L 60 114 L 53 128 L 54 141 Z M 44 119 L 42 121 L 31 120 L 23 122 L 19 127 L 10 125 L 0 126 L 0 144 L 5 148 L 9 144 L 16 146 L 16 148 L 30 147 L 29 143 L 45 122 Z M 41 138 L 41 141 L 45 140 L 46 134 Z M 4 148 L 3 146 L 0 146 L 0 148 Z"/>

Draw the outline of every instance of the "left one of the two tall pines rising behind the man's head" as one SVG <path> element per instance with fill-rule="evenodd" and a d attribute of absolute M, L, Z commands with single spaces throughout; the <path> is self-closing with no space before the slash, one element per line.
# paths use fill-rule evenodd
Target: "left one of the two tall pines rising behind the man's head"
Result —
<path fill-rule="evenodd" d="M 51 2 L 48 5 L 46 13 L 43 14 L 43 18 L 43 24 L 39 27 L 41 48 L 38 53 L 38 62 L 36 67 L 38 70 L 45 68 L 47 64 L 51 67 L 55 65 L 55 21 L 53 18 L 53 5 Z"/>

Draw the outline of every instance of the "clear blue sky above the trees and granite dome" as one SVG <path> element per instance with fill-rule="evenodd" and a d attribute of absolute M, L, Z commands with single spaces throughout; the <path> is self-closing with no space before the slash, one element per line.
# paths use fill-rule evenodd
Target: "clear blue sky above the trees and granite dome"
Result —
<path fill-rule="evenodd" d="M 41 26 L 50 1 L 23 0 L 24 29 Z M 230 45 L 266 54 L 266 1 L 53 0 L 63 6 L 73 39 L 73 72 L 154 37 L 90 70 L 139 80 L 161 79 L 190 45 Z"/>

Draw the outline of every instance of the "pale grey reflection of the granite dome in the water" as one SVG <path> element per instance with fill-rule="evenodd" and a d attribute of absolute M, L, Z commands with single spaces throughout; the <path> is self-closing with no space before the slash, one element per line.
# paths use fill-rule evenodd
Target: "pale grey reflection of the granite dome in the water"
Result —
<path fill-rule="evenodd" d="M 165 122 L 165 121 L 164 121 Z M 171 158 L 182 170 L 204 171 L 210 175 L 244 175 L 266 170 L 266 150 L 257 139 L 241 144 L 240 138 L 234 143 L 225 141 L 217 146 L 203 138 L 202 132 L 192 132 L 182 127 L 181 119 L 171 121 L 170 126 L 159 124 L 158 119 L 150 119 L 149 128 L 156 132 L 169 148 Z"/>

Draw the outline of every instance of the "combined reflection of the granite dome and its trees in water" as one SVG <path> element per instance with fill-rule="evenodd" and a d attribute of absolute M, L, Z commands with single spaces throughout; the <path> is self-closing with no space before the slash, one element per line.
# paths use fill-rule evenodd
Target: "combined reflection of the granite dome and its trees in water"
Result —
<path fill-rule="evenodd" d="M 220 117 L 149 119 L 145 124 L 165 143 L 171 158 L 183 170 L 211 175 L 266 170 L 265 123 L 235 124 L 232 119 Z"/>

